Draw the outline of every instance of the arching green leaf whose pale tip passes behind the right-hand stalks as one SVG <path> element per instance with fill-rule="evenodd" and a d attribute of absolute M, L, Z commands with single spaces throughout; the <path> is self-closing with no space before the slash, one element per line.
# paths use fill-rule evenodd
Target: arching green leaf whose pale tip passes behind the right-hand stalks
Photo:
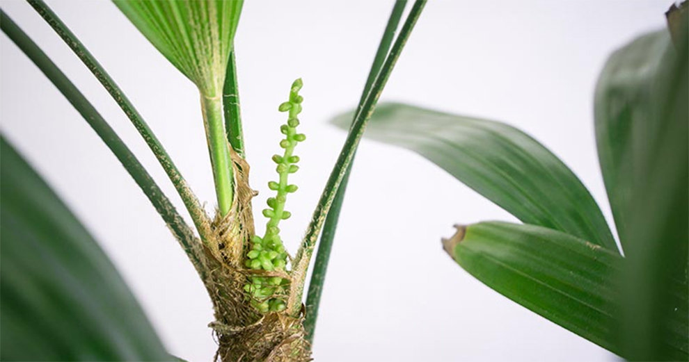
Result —
<path fill-rule="evenodd" d="M 333 123 L 348 129 L 351 112 Z M 526 224 L 617 252 L 598 204 L 577 176 L 512 126 L 387 103 L 378 106 L 365 135 L 428 158 Z"/>

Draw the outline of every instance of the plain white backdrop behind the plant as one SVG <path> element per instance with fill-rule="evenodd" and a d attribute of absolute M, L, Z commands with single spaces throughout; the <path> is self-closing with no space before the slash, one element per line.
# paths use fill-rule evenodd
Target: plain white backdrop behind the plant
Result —
<path fill-rule="evenodd" d="M 382 100 L 502 120 L 560 156 L 610 220 L 592 126 L 596 77 L 611 51 L 665 26 L 671 1 L 429 1 Z M 198 92 L 109 1 L 49 1 L 110 72 L 193 186 L 214 207 Z M 259 215 L 276 178 L 277 106 L 303 78 L 299 191 L 281 225 L 294 252 L 356 105 L 392 1 L 247 1 L 237 32 L 241 111 Z M 6 11 L 68 74 L 185 215 L 134 127 L 23 1 Z M 4 135 L 84 222 L 171 353 L 209 361 L 211 304 L 191 264 L 121 165 L 2 35 Z M 442 251 L 452 224 L 515 221 L 409 151 L 364 140 L 333 247 L 317 361 L 614 361 L 616 356 L 509 301 Z"/>

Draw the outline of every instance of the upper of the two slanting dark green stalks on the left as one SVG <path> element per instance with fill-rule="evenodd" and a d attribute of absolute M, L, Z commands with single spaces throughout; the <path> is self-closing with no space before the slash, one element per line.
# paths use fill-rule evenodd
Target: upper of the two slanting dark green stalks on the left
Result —
<path fill-rule="evenodd" d="M 79 39 L 70 31 L 70 29 L 62 22 L 62 20 L 42 1 L 42 0 L 27 0 L 31 6 L 36 10 L 38 15 L 40 15 L 49 26 L 65 41 L 65 43 L 74 51 L 74 54 L 79 57 L 79 59 L 86 65 L 88 70 L 96 77 L 98 81 L 104 86 L 104 88 L 109 92 L 111 97 L 116 101 L 118 106 L 122 108 L 125 115 L 132 121 L 136 131 L 141 135 L 143 140 L 146 142 L 148 147 L 151 149 L 155 157 L 157 158 L 160 165 L 165 170 L 168 178 L 172 181 L 175 186 L 175 190 L 182 197 L 184 201 L 184 206 L 187 207 L 187 211 L 191 214 L 191 219 L 196 225 L 196 229 L 200 234 L 202 239 L 205 239 L 209 233 L 208 230 L 208 216 L 206 215 L 200 202 L 194 195 L 193 191 L 189 187 L 189 184 L 180 171 L 177 170 L 175 163 L 173 163 L 170 156 L 168 156 L 167 151 L 165 151 L 163 145 L 161 145 L 158 138 L 155 136 L 153 131 L 149 128 L 148 124 L 143 120 L 141 115 L 138 113 L 136 108 L 129 101 L 127 96 L 120 90 L 120 87 L 111 79 L 110 75 L 105 71 L 105 69 L 98 63 L 97 60 L 90 54 L 88 49 L 81 44 Z"/>

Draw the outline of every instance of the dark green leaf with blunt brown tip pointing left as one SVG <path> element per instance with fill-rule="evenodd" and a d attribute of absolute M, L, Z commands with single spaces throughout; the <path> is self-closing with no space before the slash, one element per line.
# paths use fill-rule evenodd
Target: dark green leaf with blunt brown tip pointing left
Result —
<path fill-rule="evenodd" d="M 619 353 L 611 329 L 619 254 L 553 229 L 506 222 L 458 227 L 443 244 L 462 268 L 498 293 Z"/>

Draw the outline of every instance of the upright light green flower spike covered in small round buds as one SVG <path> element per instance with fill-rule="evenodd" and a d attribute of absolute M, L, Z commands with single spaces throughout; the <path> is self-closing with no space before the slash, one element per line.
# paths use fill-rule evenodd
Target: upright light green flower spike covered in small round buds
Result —
<path fill-rule="evenodd" d="M 301 101 L 299 95 L 301 89 L 301 79 L 292 83 L 290 90 L 290 100 L 280 104 L 280 112 L 289 112 L 290 116 L 287 124 L 280 126 L 280 131 L 285 138 L 280 141 L 280 147 L 285 149 L 282 156 L 273 156 L 273 161 L 277 164 L 276 171 L 280 176 L 279 180 L 270 181 L 268 187 L 276 191 L 275 197 L 268 199 L 268 208 L 263 210 L 263 215 L 267 217 L 266 232 L 261 238 L 253 236 L 251 250 L 246 254 L 246 267 L 253 270 L 285 271 L 287 268 L 287 252 L 280 239 L 280 220 L 287 220 L 292 215 L 285 210 L 287 194 L 295 192 L 296 185 L 287 183 L 287 176 L 299 170 L 295 165 L 299 162 L 299 156 L 293 154 L 297 143 L 306 140 L 306 135 L 296 133 L 296 126 L 299 125 L 297 116 L 301 113 Z M 285 295 L 288 281 L 281 277 L 251 277 L 251 283 L 244 286 L 244 290 L 251 295 L 252 304 L 258 311 L 266 313 L 269 311 L 283 311 L 286 307 L 285 300 L 280 295 Z"/>

